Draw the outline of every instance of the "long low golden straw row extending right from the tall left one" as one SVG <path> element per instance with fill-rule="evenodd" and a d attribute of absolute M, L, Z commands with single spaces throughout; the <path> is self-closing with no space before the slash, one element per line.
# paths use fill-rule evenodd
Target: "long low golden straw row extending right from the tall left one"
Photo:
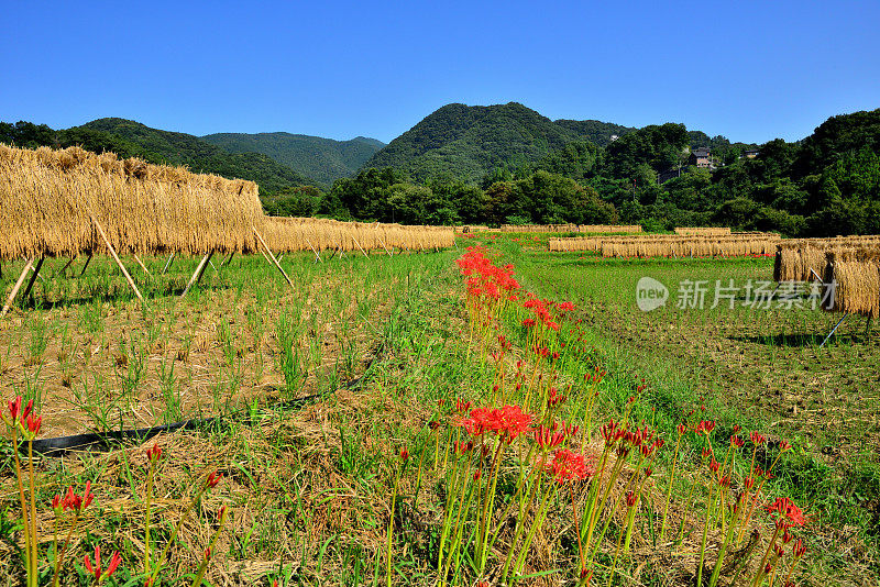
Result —
<path fill-rule="evenodd" d="M 316 218 L 267 218 L 266 244 L 274 252 L 296 251 L 427 251 L 454 246 L 452 226 L 341 222 Z"/>

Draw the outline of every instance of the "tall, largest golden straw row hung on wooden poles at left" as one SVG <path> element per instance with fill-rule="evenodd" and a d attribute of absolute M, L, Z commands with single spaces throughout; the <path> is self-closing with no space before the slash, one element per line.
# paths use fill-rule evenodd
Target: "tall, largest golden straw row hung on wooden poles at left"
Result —
<path fill-rule="evenodd" d="M 253 181 L 193 174 L 78 147 L 0 145 L 0 259 L 255 250 L 263 209 Z"/>

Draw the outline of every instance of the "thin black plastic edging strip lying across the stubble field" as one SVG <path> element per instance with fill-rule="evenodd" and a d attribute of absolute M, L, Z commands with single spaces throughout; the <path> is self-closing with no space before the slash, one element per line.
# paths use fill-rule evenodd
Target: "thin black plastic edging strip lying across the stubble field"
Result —
<path fill-rule="evenodd" d="M 358 387 L 366 374 L 370 372 L 370 367 L 373 365 L 375 361 L 375 356 L 370 359 L 366 365 L 366 369 L 364 370 L 363 375 L 360 377 L 355 377 L 350 381 L 345 383 L 345 385 L 339 387 L 339 389 L 354 389 Z M 327 392 L 322 394 L 312 394 L 311 396 L 305 396 L 301 398 L 292 399 L 289 401 L 282 401 L 278 403 L 273 403 L 267 408 L 300 408 L 306 403 L 309 403 L 312 400 L 319 399 L 323 396 L 328 395 Z M 85 450 L 94 450 L 94 451 L 109 451 L 114 446 L 119 446 L 123 441 L 131 441 L 135 440 L 138 442 L 144 442 L 146 440 L 152 439 L 156 434 L 161 434 L 162 432 L 175 432 L 177 430 L 193 430 L 210 424 L 226 424 L 229 423 L 230 420 L 243 420 L 242 416 L 246 414 L 245 412 L 238 411 L 227 416 L 215 416 L 211 418 L 196 418 L 193 420 L 184 420 L 180 422 L 174 422 L 172 424 L 164 424 L 158 427 L 151 427 L 151 428 L 139 428 L 139 429 L 131 429 L 131 430 L 109 430 L 106 432 L 86 432 L 82 434 L 72 434 L 69 436 L 56 436 L 54 439 L 37 439 L 33 441 L 33 451 L 38 453 L 43 456 L 65 456 L 67 453 L 76 452 L 76 451 L 85 451 Z M 26 450 L 26 443 L 21 443 L 19 446 L 20 451 L 24 452 Z"/>

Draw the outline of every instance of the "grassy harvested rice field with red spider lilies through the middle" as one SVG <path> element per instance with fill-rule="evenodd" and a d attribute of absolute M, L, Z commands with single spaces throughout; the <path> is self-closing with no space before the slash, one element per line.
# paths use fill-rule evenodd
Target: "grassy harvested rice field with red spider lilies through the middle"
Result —
<path fill-rule="evenodd" d="M 771 256 L 559 236 L 217 255 L 183 298 L 200 256 L 123 254 L 144 303 L 48 258 L 0 320 L 0 585 L 96 545 L 112 585 L 877 585 L 867 317 L 820 348 Z"/>

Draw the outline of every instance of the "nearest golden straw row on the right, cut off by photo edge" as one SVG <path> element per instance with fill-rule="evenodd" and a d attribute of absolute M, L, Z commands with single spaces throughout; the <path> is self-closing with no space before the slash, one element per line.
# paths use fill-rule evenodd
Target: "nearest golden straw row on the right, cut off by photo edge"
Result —
<path fill-rule="evenodd" d="M 848 248 L 826 254 L 824 281 L 836 281 L 829 310 L 880 317 L 880 251 Z"/>

